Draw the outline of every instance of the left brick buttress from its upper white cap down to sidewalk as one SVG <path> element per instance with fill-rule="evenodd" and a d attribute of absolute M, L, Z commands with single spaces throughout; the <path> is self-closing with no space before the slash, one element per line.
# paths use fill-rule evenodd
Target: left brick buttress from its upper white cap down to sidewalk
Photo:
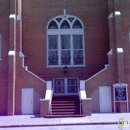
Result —
<path fill-rule="evenodd" d="M 15 114 L 15 42 L 14 42 L 14 21 L 15 14 L 9 17 L 9 53 L 8 53 L 8 115 Z"/>

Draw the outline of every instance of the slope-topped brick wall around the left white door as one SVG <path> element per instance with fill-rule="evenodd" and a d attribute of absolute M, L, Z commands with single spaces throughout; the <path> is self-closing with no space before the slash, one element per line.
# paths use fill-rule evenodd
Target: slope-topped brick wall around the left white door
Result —
<path fill-rule="evenodd" d="M 40 100 L 45 97 L 46 83 L 36 78 L 32 74 L 28 73 L 23 67 L 21 67 L 21 58 L 18 58 L 17 73 L 16 73 L 16 95 L 15 95 L 15 114 L 21 114 L 22 108 L 22 88 L 33 88 L 34 89 L 34 114 L 40 112 Z M 39 98 L 39 99 L 38 99 Z M 36 104 L 38 104 L 36 106 Z M 38 107 L 38 108 L 37 108 Z M 38 110 L 39 109 L 39 110 Z"/>

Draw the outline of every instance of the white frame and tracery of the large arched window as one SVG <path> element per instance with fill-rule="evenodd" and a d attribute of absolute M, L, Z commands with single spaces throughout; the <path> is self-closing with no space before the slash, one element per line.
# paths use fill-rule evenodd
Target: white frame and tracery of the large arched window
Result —
<path fill-rule="evenodd" d="M 56 18 L 62 18 L 61 22 L 58 22 L 56 20 Z M 73 17 L 74 20 L 72 22 L 70 22 L 68 20 L 68 17 Z M 61 26 L 61 23 L 66 20 L 69 25 L 70 25 L 70 29 L 60 29 L 60 26 Z M 81 29 L 73 29 L 72 26 L 73 26 L 73 23 L 76 21 L 76 20 L 79 20 L 81 25 L 82 25 L 82 28 Z M 55 21 L 58 25 L 58 29 L 48 29 L 48 26 L 50 24 L 51 21 Z M 48 50 L 49 50 L 49 41 L 48 41 L 48 36 L 49 35 L 58 35 L 58 57 L 61 56 L 61 48 L 60 48 L 60 36 L 61 35 L 70 35 L 70 55 L 71 55 L 71 65 L 61 65 L 61 58 L 58 59 L 58 65 L 49 65 L 49 61 L 48 61 Z M 83 36 L 83 64 L 82 65 L 74 65 L 74 61 L 73 61 L 73 35 L 82 35 Z M 82 23 L 82 21 L 80 19 L 78 19 L 77 17 L 75 16 L 71 16 L 71 15 L 61 15 L 61 16 L 57 16 L 53 19 L 51 19 L 48 24 L 47 24 L 47 67 L 64 67 L 64 66 L 68 66 L 68 67 L 85 67 L 85 45 L 84 45 L 84 25 Z"/>

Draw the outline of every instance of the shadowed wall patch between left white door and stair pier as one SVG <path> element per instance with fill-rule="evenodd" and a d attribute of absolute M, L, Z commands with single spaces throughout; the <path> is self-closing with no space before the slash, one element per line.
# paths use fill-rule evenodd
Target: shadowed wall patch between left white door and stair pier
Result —
<path fill-rule="evenodd" d="M 40 99 L 41 99 L 41 96 L 36 92 L 36 91 L 34 91 L 34 106 L 33 106 L 33 108 L 34 108 L 34 111 L 33 111 L 33 113 L 34 114 L 40 114 Z"/>

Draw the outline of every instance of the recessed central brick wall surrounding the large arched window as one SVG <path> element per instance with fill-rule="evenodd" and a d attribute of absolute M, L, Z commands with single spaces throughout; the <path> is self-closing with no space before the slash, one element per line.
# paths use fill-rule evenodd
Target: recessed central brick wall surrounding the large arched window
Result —
<path fill-rule="evenodd" d="M 51 18 L 63 14 L 63 1 L 23 0 L 25 65 L 46 80 L 55 77 L 86 79 L 101 70 L 107 63 L 108 1 L 67 1 L 66 9 L 67 14 L 77 16 L 84 23 L 86 56 L 86 67 L 69 67 L 67 74 L 64 73 L 63 68 L 46 68 L 46 25 Z"/>

